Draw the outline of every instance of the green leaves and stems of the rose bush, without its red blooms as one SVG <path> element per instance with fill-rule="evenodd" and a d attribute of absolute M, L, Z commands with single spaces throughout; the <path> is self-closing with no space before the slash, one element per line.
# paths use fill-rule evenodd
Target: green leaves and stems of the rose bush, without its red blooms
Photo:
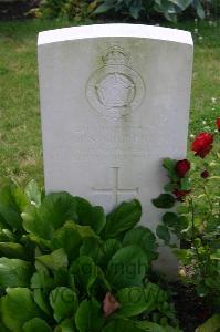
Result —
<path fill-rule="evenodd" d="M 217 184 L 219 179 L 214 176 L 213 167 L 210 176 L 202 178 L 201 170 L 207 169 L 209 164 L 203 159 L 198 164 L 192 165 L 193 172 L 197 172 L 191 180 L 188 174 L 178 177 L 175 168 L 177 160 L 164 160 L 169 178 L 165 190 L 172 194 L 172 185 L 180 183 L 180 193 L 188 189 L 190 191 L 188 196 L 182 196 L 182 206 L 178 206 L 176 211 L 164 214 L 163 224 L 158 225 L 156 232 L 180 261 L 182 280 L 193 284 L 198 295 L 207 298 L 216 310 L 220 305 L 220 193 L 219 186 L 213 187 L 212 181 Z M 167 194 L 159 197 L 163 195 Z M 155 200 L 153 203 L 161 207 Z M 180 240 L 180 248 L 176 239 Z"/>

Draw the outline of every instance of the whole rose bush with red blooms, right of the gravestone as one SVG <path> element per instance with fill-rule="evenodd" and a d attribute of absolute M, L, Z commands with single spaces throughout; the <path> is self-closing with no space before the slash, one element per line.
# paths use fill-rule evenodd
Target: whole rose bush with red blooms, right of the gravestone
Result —
<path fill-rule="evenodd" d="M 217 120 L 220 131 L 220 120 Z M 169 209 L 169 201 L 182 201 L 177 210 L 166 211 L 157 227 L 158 237 L 168 245 L 182 267 L 182 280 L 196 287 L 199 297 L 207 299 L 217 310 L 220 305 L 220 187 L 218 135 L 200 133 L 191 144 L 192 163 L 187 159 L 165 159 L 169 183 L 165 186 L 169 199 L 160 195 L 153 200 L 156 207 Z M 213 146 L 213 143 L 216 145 Z M 189 177 L 189 170 L 193 177 Z M 180 240 L 181 247 L 177 245 Z"/>

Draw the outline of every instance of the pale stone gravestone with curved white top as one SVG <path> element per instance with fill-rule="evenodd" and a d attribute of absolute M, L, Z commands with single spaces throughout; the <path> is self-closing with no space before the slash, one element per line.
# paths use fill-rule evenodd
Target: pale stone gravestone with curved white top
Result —
<path fill-rule="evenodd" d="M 142 222 L 155 229 L 161 160 L 186 156 L 191 34 L 88 25 L 41 32 L 38 49 L 46 191 L 66 190 L 106 211 L 136 197 Z M 175 270 L 161 252 L 159 266 Z"/>

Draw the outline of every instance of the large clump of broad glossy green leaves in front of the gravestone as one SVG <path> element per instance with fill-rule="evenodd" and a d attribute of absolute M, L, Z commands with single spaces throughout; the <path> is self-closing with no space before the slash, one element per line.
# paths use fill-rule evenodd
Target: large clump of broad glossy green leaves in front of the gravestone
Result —
<path fill-rule="evenodd" d="M 146 331 L 138 323 L 155 313 L 151 330 L 176 326 L 168 293 L 149 281 L 157 243 L 136 226 L 139 201 L 105 216 L 67 193 L 44 197 L 34 181 L 24 191 L 3 187 L 0 197 L 1 331 Z"/>

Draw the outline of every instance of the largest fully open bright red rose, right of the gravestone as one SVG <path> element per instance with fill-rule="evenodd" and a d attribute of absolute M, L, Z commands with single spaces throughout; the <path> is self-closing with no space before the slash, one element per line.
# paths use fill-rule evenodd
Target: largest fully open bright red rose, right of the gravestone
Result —
<path fill-rule="evenodd" d="M 205 158 L 212 149 L 213 135 L 209 133 L 199 134 L 191 144 L 195 156 Z"/>

